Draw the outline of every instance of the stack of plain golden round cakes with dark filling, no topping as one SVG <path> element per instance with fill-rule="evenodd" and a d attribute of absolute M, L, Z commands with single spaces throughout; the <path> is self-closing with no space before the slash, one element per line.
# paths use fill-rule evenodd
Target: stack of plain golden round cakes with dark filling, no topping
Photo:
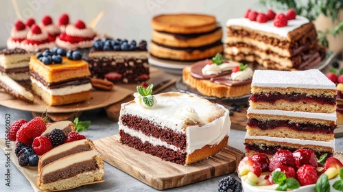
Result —
<path fill-rule="evenodd" d="M 171 60 L 202 60 L 223 51 L 215 16 L 162 14 L 152 19 L 150 53 Z"/>

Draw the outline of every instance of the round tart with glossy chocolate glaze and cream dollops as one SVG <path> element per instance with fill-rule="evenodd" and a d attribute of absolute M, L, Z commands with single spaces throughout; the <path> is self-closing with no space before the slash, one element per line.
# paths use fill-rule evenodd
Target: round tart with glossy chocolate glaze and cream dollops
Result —
<path fill-rule="evenodd" d="M 250 94 L 253 71 L 246 64 L 225 60 L 220 53 L 182 70 L 182 80 L 211 97 L 239 97 Z"/>

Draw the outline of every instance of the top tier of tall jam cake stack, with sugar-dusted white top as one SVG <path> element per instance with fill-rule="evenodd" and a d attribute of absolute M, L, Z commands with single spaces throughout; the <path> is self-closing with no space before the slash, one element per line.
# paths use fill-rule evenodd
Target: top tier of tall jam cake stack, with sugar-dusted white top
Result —
<path fill-rule="evenodd" d="M 335 84 L 318 69 L 261 71 L 252 77 L 250 106 L 255 109 L 332 113 Z"/>

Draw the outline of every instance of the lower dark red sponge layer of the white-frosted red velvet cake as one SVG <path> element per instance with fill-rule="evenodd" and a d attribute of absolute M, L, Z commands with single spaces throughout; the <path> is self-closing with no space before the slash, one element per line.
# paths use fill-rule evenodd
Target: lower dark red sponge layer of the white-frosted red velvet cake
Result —
<path fill-rule="evenodd" d="M 147 154 L 152 154 L 153 156 L 158 156 L 166 161 L 185 165 L 187 156 L 185 153 L 176 152 L 163 146 L 154 146 L 149 142 L 142 143 L 141 139 L 130 136 L 130 134 L 126 134 L 123 130 L 119 131 L 119 135 L 121 143 L 128 145 L 129 147 L 134 147 L 134 149 L 138 149 L 139 151 Z"/>

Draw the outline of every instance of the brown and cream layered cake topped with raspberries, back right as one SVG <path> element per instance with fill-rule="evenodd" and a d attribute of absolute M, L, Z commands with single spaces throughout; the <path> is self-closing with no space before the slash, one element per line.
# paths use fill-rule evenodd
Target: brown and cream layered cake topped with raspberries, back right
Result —
<path fill-rule="evenodd" d="M 254 13 L 255 18 L 249 16 Z M 228 19 L 224 41 L 226 58 L 288 71 L 316 64 L 325 56 L 324 48 L 318 45 L 314 24 L 305 17 L 287 20 L 280 13 L 274 14 L 275 18 L 257 20 L 257 15 L 248 10 L 246 18 Z M 286 25 L 276 24 L 283 19 Z"/>

